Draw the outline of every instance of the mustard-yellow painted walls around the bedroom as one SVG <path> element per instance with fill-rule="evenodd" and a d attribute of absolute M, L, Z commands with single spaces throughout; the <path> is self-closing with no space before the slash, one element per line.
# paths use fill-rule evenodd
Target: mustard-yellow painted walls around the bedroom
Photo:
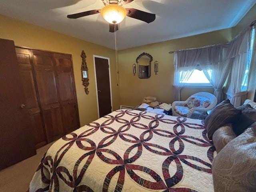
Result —
<path fill-rule="evenodd" d="M 234 28 L 121 50 L 119 51 L 119 87 L 116 86 L 115 51 L 112 49 L 2 15 L 0 15 L 0 38 L 14 40 L 17 46 L 72 54 L 80 122 L 83 126 L 98 118 L 93 54 L 110 58 L 114 109 L 117 109 L 120 104 L 136 106 L 142 102 L 145 96 L 156 96 L 159 101 L 170 103 L 173 102 L 174 55 L 168 54 L 168 52 L 230 41 L 253 20 L 256 20 L 256 5 Z M 81 81 L 80 54 L 82 50 L 87 55 L 86 62 L 90 78 L 89 95 L 85 94 Z M 137 56 L 142 52 L 147 52 L 153 56 L 152 74 L 149 79 L 139 79 L 138 73 L 135 76 L 132 74 L 132 64 L 136 62 Z M 159 62 L 158 75 L 153 72 L 154 61 L 156 60 Z M 256 54 L 254 53 L 251 74 L 255 74 L 255 72 Z M 254 96 L 255 82 L 256 76 L 250 75 L 248 97 L 251 99 Z M 181 90 L 181 99 L 186 100 L 190 95 L 201 91 L 214 92 L 211 87 L 185 87 Z"/>

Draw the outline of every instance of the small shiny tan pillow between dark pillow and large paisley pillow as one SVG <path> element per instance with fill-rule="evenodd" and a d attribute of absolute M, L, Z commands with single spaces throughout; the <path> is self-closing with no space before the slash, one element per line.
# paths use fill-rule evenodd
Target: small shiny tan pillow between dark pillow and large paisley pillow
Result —
<path fill-rule="evenodd" d="M 236 134 L 232 129 L 232 125 L 227 125 L 216 130 L 212 136 L 212 142 L 216 148 L 217 153 L 220 152 L 228 144 L 236 138 Z"/>

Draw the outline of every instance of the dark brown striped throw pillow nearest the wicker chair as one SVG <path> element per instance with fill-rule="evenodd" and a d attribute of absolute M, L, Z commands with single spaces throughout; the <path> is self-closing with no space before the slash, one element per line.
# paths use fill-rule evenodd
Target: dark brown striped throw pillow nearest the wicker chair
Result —
<path fill-rule="evenodd" d="M 236 109 L 230 100 L 224 100 L 218 104 L 212 112 L 204 120 L 208 133 L 208 138 L 212 139 L 214 132 L 226 125 L 232 123 L 239 115 L 241 111 Z"/>

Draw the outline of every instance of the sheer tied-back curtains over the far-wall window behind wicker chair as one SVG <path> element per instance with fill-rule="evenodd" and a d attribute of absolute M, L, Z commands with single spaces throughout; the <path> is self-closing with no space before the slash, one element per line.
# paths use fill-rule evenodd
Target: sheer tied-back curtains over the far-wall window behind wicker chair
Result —
<path fill-rule="evenodd" d="M 180 100 L 180 90 L 190 78 L 192 72 L 200 66 L 206 77 L 216 90 L 216 94 L 220 94 L 222 90 L 218 84 L 221 74 L 215 72 L 222 62 L 222 46 L 207 46 L 203 48 L 181 50 L 174 54 L 174 100 Z M 222 69 L 218 70 L 219 73 Z M 211 74 L 210 74 L 211 73 Z M 222 74 L 223 75 L 223 74 Z M 225 81 L 225 78 L 223 78 Z M 224 83 L 223 83 L 224 84 Z M 222 86 L 223 86 L 222 84 Z M 221 95 L 221 94 L 220 94 Z"/>

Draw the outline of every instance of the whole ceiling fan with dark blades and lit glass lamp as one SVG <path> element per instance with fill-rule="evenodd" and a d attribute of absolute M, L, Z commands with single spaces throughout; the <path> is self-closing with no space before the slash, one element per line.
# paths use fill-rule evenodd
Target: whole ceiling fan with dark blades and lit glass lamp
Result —
<path fill-rule="evenodd" d="M 118 30 L 118 23 L 124 20 L 125 16 L 135 18 L 147 23 L 151 23 L 156 19 L 156 14 L 147 13 L 134 8 L 124 8 L 124 4 L 133 2 L 134 0 L 102 0 L 104 8 L 85 11 L 81 13 L 68 15 L 70 19 L 77 19 L 80 17 L 94 15 L 100 13 L 103 18 L 109 22 L 109 32 Z"/>

